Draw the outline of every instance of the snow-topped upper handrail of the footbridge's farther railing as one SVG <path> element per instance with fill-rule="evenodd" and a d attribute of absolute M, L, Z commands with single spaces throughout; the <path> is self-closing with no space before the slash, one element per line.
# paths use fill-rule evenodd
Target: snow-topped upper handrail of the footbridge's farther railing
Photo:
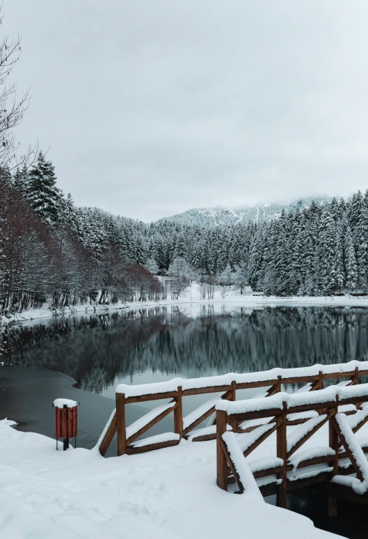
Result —
<path fill-rule="evenodd" d="M 349 361 L 344 364 L 320 365 L 296 368 L 273 368 L 256 373 L 227 373 L 202 378 L 173 378 L 166 382 L 153 382 L 152 384 L 118 384 L 116 393 L 124 393 L 126 403 L 144 402 L 159 398 L 173 398 L 179 387 L 182 395 L 196 395 L 200 393 L 216 393 L 229 391 L 232 382 L 237 389 L 250 389 L 253 387 L 272 386 L 278 383 L 307 383 L 321 380 L 344 378 L 358 373 L 359 376 L 368 375 L 368 361 Z"/>

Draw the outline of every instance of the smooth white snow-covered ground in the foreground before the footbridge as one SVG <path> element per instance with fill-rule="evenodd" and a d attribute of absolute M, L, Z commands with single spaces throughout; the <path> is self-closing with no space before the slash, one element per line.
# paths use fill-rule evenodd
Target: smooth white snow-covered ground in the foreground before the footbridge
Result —
<path fill-rule="evenodd" d="M 7 423 L 0 421 L 1 539 L 337 538 L 255 492 L 220 490 L 215 442 L 104 459 L 96 450 L 56 451 L 53 439 Z M 327 436 L 321 429 L 310 446 Z M 274 451 L 271 435 L 255 458 Z"/>

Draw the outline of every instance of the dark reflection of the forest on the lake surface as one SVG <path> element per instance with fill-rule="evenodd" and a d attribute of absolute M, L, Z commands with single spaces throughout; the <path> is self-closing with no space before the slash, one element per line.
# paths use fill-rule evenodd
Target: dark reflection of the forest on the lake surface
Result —
<path fill-rule="evenodd" d="M 147 370 L 200 376 L 274 366 L 342 363 L 368 356 L 368 310 L 274 307 L 199 318 L 156 307 L 13 327 L 13 361 L 72 376 L 100 392 L 115 375 Z"/>

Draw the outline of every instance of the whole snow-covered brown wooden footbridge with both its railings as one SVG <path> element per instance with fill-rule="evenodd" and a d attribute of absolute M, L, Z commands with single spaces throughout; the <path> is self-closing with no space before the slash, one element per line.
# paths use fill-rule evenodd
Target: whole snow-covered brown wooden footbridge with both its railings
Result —
<path fill-rule="evenodd" d="M 230 487 L 242 493 L 256 486 L 264 497 L 276 494 L 278 505 L 286 507 L 290 490 L 322 485 L 328 494 L 329 514 L 335 516 L 337 497 L 368 503 L 368 435 L 356 436 L 368 421 L 368 384 L 360 383 L 367 376 L 368 361 L 351 361 L 176 378 L 159 384 L 120 384 L 116 408 L 97 445 L 105 455 L 117 433 L 118 455 L 131 455 L 174 446 L 182 438 L 193 442 L 216 438 L 217 484 L 221 489 Z M 330 385 L 323 388 L 324 384 Z M 285 386 L 294 392 L 283 392 Z M 237 390 L 254 388 L 263 391 L 253 398 L 236 400 Z M 220 395 L 184 416 L 184 398 L 208 393 Z M 168 402 L 126 425 L 127 405 L 164 399 Z M 174 432 L 140 439 L 171 412 Z M 211 416 L 214 421 L 198 429 Z M 308 446 L 319 430 L 323 444 Z M 263 452 L 262 458 L 251 460 L 266 439 L 273 439 L 271 453 Z"/>

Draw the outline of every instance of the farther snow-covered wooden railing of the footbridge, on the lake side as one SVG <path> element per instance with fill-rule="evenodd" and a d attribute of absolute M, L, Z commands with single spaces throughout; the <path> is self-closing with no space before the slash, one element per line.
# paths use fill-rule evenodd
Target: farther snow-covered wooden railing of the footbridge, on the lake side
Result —
<path fill-rule="evenodd" d="M 97 446 L 102 455 L 106 454 L 109 445 L 117 432 L 118 455 L 141 453 L 179 444 L 186 438 L 199 442 L 216 438 L 216 426 L 209 425 L 195 430 L 200 423 L 208 419 L 215 411 L 219 399 L 235 401 L 238 389 L 263 388 L 261 396 L 268 399 L 282 391 L 285 384 L 303 384 L 296 394 L 303 395 L 323 388 L 323 382 L 337 380 L 339 386 L 358 384 L 360 378 L 368 375 L 368 361 L 351 361 L 347 364 L 314 365 L 305 368 L 274 368 L 258 373 L 227 373 L 225 375 L 202 378 L 175 378 L 168 382 L 155 384 L 127 385 L 116 387 L 116 409 L 99 439 Z M 186 416 L 183 414 L 184 398 L 207 393 L 221 393 L 220 397 L 211 398 Z M 126 424 L 125 408 L 129 404 L 143 403 L 153 400 L 171 399 L 169 403 L 159 405 L 131 425 Z M 341 409 L 351 414 L 356 407 Z M 141 438 L 150 428 L 173 412 L 174 432 Z M 318 415 L 318 412 L 315 412 Z M 296 425 L 310 419 L 308 414 L 287 414 L 287 424 Z M 243 432 L 250 432 L 259 427 L 257 421 L 247 420 L 241 425 Z M 264 434 L 266 435 L 266 433 Z"/>

